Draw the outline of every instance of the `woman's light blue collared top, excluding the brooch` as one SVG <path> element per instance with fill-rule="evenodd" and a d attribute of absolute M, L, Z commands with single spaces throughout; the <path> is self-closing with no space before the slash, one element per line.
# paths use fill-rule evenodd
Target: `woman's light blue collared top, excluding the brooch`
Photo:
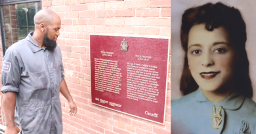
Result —
<path fill-rule="evenodd" d="M 214 129 L 213 105 L 221 109 L 222 121 L 219 129 Z M 172 134 L 254 134 L 256 133 L 256 103 L 233 92 L 220 103 L 212 103 L 199 88 L 180 99 L 171 101 Z"/>

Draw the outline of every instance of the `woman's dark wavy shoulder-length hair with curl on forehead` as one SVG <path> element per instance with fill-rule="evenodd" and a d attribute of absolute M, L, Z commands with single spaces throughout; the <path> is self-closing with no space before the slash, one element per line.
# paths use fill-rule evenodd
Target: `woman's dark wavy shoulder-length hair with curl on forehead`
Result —
<path fill-rule="evenodd" d="M 188 32 L 193 25 L 205 24 L 205 29 L 213 29 L 223 26 L 232 42 L 238 61 L 235 65 L 234 73 L 234 90 L 242 95 L 251 98 L 253 90 L 251 79 L 249 78 L 249 61 L 245 50 L 246 29 L 245 22 L 240 11 L 234 7 L 228 7 L 223 3 L 207 3 L 205 5 L 188 8 L 182 15 L 181 25 L 181 43 L 186 52 L 184 57 L 184 68 L 181 76 L 180 90 L 183 95 L 194 92 L 198 89 L 198 84 L 192 77 L 188 68 Z"/>

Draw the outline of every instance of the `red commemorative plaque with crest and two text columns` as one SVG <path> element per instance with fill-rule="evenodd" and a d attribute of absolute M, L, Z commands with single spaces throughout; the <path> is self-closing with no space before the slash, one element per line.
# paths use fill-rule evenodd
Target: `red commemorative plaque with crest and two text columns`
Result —
<path fill-rule="evenodd" d="M 95 105 L 164 124 L 169 39 L 90 35 Z"/>

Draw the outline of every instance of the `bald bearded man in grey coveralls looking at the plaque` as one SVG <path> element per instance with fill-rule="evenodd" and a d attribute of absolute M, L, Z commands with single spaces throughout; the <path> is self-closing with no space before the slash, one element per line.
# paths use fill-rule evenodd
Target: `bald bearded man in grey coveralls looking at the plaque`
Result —
<path fill-rule="evenodd" d="M 14 109 L 18 112 L 22 134 L 62 134 L 60 93 L 66 97 L 70 115 L 77 107 L 64 80 L 62 54 L 56 40 L 60 17 L 40 10 L 34 16 L 35 31 L 12 44 L 3 58 L 1 76 L 6 134 L 18 133 Z"/>

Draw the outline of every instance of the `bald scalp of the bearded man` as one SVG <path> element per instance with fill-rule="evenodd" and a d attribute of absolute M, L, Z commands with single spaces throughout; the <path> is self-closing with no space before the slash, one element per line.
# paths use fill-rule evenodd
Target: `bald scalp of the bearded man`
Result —
<path fill-rule="evenodd" d="M 55 12 L 53 12 L 53 10 L 42 9 L 39 10 L 37 14 L 35 14 L 35 16 L 33 17 L 33 21 L 35 23 L 35 26 L 40 24 L 49 25 L 51 24 L 51 22 L 53 22 L 55 18 L 60 17 Z"/>

